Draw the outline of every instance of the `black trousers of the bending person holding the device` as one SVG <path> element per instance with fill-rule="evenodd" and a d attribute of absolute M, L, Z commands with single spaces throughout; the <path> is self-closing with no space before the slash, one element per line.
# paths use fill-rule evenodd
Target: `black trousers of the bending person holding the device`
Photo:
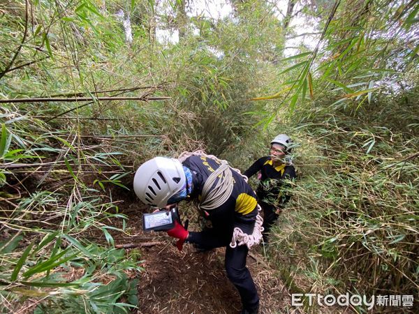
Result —
<path fill-rule="evenodd" d="M 221 236 L 212 229 L 203 232 L 189 232 L 189 243 L 197 244 L 200 248 L 211 249 L 226 247 L 225 267 L 227 277 L 235 285 L 242 299 L 243 308 L 255 311 L 259 306 L 259 296 L 256 285 L 246 267 L 247 246 L 230 247 L 231 234 Z"/>

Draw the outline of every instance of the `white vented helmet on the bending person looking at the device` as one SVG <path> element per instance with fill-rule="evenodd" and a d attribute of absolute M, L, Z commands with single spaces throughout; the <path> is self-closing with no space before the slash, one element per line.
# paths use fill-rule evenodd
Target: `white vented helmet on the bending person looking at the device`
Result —
<path fill-rule="evenodd" d="M 155 157 L 135 172 L 134 192 L 143 203 L 163 208 L 185 184 L 186 176 L 179 160 Z"/>

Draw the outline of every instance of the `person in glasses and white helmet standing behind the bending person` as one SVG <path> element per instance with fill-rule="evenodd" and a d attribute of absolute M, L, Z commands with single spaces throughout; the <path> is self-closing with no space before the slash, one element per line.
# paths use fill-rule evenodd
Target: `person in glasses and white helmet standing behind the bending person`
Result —
<path fill-rule="evenodd" d="M 270 155 L 259 158 L 244 172 L 247 177 L 260 172 L 260 183 L 256 194 L 258 203 L 263 209 L 263 240 L 267 242 L 267 234 L 277 220 L 281 208 L 290 199 L 281 193 L 285 179 L 295 179 L 295 168 L 288 160 L 293 141 L 286 134 L 279 134 L 270 143 Z"/>

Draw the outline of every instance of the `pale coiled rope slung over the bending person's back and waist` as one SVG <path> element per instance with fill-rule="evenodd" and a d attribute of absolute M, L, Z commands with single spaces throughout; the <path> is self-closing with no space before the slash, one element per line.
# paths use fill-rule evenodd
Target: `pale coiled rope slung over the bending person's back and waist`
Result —
<path fill-rule="evenodd" d="M 192 153 L 184 151 L 177 159 L 183 163 L 184 160 L 190 156 L 204 156 L 206 158 L 216 160 L 221 164 L 214 172 L 212 172 L 212 174 L 210 174 L 207 181 L 205 181 L 201 194 L 201 200 L 198 204 L 198 208 L 203 211 L 211 211 L 212 209 L 220 207 L 228 200 L 228 197 L 230 197 L 233 192 L 233 174 L 231 170 L 238 172 L 240 175 L 242 175 L 242 173 L 240 170 L 230 167 L 226 160 L 220 160 L 214 155 L 207 155 L 205 154 L 205 151 L 202 150 L 193 151 Z M 242 175 L 242 177 L 244 181 L 247 182 L 247 177 L 244 175 Z M 216 181 L 217 178 L 219 178 L 218 181 Z M 216 184 L 213 187 L 214 182 L 216 182 Z M 252 234 L 246 234 L 242 229 L 240 229 L 240 227 L 235 227 L 233 230 L 233 237 L 230 242 L 231 248 L 235 248 L 237 245 L 246 245 L 248 248 L 251 248 L 253 245 L 260 243 L 263 232 L 263 218 L 259 214 L 261 211 L 260 205 L 258 204 L 257 206 L 258 215 L 256 216 L 256 222 Z"/>

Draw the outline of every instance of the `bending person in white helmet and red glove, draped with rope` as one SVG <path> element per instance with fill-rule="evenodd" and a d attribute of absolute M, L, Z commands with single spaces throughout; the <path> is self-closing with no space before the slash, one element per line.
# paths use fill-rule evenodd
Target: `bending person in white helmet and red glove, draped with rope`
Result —
<path fill-rule="evenodd" d="M 262 238 L 263 220 L 256 195 L 239 172 L 203 151 L 182 154 L 179 160 L 156 157 L 138 168 L 134 191 L 142 202 L 159 208 L 196 200 L 211 227 L 189 232 L 175 221 L 168 235 L 178 239 L 179 250 L 185 242 L 204 250 L 226 247 L 226 273 L 240 293 L 242 313 L 258 313 L 258 292 L 246 257 Z"/>

